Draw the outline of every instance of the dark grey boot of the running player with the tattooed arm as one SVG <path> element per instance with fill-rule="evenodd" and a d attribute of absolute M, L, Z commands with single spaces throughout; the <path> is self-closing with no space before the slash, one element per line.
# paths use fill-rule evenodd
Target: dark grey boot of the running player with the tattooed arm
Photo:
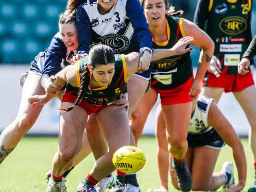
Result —
<path fill-rule="evenodd" d="M 182 191 L 190 191 L 192 189 L 193 180 L 191 177 L 191 174 L 186 166 L 186 163 L 184 163 L 181 166 L 174 166 L 173 168 L 176 172 L 178 186 L 180 190 Z"/>

